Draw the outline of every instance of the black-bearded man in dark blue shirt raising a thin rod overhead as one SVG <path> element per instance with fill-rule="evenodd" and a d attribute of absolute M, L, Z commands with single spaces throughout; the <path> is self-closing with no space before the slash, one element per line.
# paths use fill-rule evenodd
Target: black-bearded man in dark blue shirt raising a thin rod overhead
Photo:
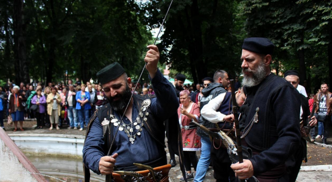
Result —
<path fill-rule="evenodd" d="M 181 133 L 175 91 L 157 68 L 157 46 L 150 45 L 148 49 L 144 61 L 156 97 L 134 95 L 130 99 L 131 78 L 117 62 L 97 73 L 109 104 L 91 117 L 83 148 L 84 166 L 97 174 L 111 174 L 114 166 L 120 171 L 138 171 L 133 163 L 153 168 L 166 165 L 164 121 L 168 119 L 177 136 Z"/>

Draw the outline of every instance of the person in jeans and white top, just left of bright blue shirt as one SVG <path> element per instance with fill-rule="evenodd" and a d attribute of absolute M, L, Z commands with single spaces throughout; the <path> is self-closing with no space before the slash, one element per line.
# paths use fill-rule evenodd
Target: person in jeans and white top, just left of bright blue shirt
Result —
<path fill-rule="evenodd" d="M 65 105 L 67 106 L 69 127 L 68 129 L 77 129 L 77 111 L 76 111 L 76 92 L 73 85 L 69 85 L 69 91 L 66 93 Z"/>

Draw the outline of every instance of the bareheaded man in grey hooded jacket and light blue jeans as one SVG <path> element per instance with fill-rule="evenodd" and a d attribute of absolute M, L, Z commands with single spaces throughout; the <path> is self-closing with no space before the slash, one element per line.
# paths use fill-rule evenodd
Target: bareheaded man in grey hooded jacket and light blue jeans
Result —
<path fill-rule="evenodd" d="M 205 82 L 209 81 L 209 79 L 205 80 Z M 211 81 L 211 80 L 210 80 Z M 201 101 L 199 102 L 200 110 L 209 103 L 212 99 L 216 98 L 222 93 L 225 93 L 226 90 L 224 89 L 227 84 L 229 83 L 228 79 L 228 74 L 226 71 L 218 69 L 214 76 L 213 76 L 213 83 L 207 84 L 207 87 L 205 87 L 202 90 L 203 97 Z M 214 123 L 211 123 L 210 121 L 206 120 L 202 116 L 199 119 L 199 123 L 203 124 L 207 128 L 217 128 Z M 209 138 L 209 135 L 205 133 L 202 129 L 198 128 L 197 129 L 197 134 L 201 136 L 201 157 L 198 161 L 197 164 L 197 169 L 196 169 L 196 176 L 194 181 L 195 182 L 203 182 L 206 172 L 208 171 L 209 165 L 210 165 L 210 157 L 211 157 L 211 141 Z M 214 168 L 216 171 L 216 169 Z M 219 170 L 217 170 L 219 171 Z M 220 179 L 220 176 L 228 174 L 226 173 L 214 173 L 215 179 L 222 180 Z"/>

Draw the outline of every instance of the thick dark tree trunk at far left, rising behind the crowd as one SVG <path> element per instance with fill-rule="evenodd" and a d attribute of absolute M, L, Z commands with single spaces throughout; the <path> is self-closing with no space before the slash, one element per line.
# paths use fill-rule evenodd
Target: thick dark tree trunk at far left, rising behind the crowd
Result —
<path fill-rule="evenodd" d="M 15 75 L 16 82 L 21 81 L 25 83 L 30 82 L 29 66 L 26 59 L 26 45 L 25 45 L 25 26 L 23 23 L 23 0 L 14 0 L 14 58 L 15 58 Z"/>

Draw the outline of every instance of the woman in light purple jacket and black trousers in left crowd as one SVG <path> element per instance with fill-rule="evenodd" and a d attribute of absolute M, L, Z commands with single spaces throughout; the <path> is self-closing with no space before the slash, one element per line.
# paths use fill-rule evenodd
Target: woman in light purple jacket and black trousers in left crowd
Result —
<path fill-rule="evenodd" d="M 32 98 L 31 103 L 39 106 L 35 113 L 37 119 L 37 128 L 43 129 L 45 120 L 46 98 L 42 95 L 42 89 L 37 90 L 37 95 Z"/>

